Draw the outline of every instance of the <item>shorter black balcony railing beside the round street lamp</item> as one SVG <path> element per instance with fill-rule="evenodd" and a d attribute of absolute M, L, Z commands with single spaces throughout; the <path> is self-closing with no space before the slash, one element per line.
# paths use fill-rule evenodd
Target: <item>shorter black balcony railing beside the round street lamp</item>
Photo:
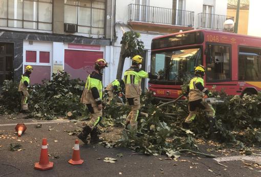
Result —
<path fill-rule="evenodd" d="M 216 29 L 223 30 L 223 24 L 227 19 L 231 19 L 234 21 L 234 17 L 226 16 L 226 15 L 216 15 L 216 14 L 208 14 L 208 13 L 199 13 L 198 14 L 199 25 L 198 28 L 208 28 L 208 29 Z"/>

